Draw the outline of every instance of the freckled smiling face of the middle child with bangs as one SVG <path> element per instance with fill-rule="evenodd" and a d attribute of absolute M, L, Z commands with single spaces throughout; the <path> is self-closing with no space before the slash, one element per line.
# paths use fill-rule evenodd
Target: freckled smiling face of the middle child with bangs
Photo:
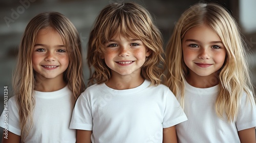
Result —
<path fill-rule="evenodd" d="M 140 75 L 141 67 L 150 54 L 141 40 L 116 35 L 105 43 L 103 58 L 111 69 L 111 76 Z"/>

